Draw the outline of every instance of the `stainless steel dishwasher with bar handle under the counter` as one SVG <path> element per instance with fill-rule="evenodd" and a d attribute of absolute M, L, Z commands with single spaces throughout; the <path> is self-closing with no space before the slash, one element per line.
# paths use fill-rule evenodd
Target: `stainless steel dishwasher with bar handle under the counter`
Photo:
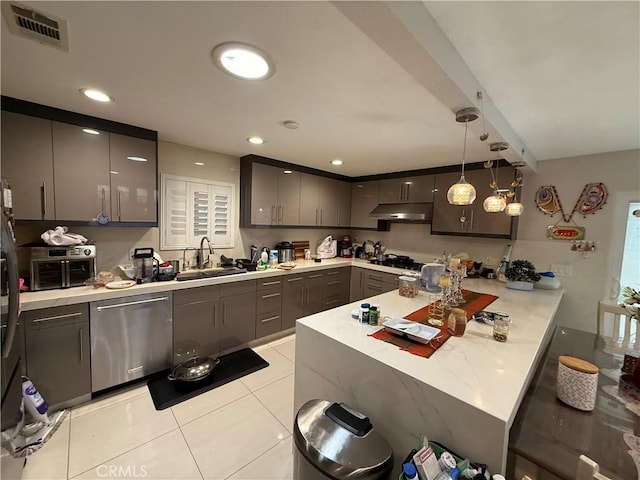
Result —
<path fill-rule="evenodd" d="M 91 391 L 171 368 L 171 292 L 90 304 Z"/>

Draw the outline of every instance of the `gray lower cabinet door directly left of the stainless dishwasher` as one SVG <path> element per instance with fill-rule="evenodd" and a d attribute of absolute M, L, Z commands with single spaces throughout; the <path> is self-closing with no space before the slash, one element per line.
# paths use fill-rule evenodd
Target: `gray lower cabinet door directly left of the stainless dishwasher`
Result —
<path fill-rule="evenodd" d="M 91 396 L 89 305 L 23 312 L 27 376 L 50 406 Z"/>

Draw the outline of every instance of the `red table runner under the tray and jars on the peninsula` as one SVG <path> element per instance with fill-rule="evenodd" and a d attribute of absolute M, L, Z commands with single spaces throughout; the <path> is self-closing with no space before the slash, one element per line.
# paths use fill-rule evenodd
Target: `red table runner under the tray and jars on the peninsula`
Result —
<path fill-rule="evenodd" d="M 473 317 L 474 313 L 479 312 L 480 310 L 484 310 L 487 305 L 495 302 L 498 298 L 495 295 L 472 292 L 471 290 L 462 290 L 462 296 L 465 299 L 465 303 L 462 305 L 458 305 L 457 308 L 461 308 L 466 312 L 467 321 L 470 320 L 471 317 Z M 378 340 L 382 340 L 383 342 L 392 343 L 397 347 L 400 347 L 400 350 L 406 350 L 407 352 L 413 353 L 414 355 L 429 358 L 437 349 L 439 349 L 447 340 L 449 340 L 449 337 L 451 337 L 449 330 L 447 330 L 446 324 L 446 319 L 449 316 L 449 311 L 449 309 L 445 310 L 445 324 L 441 327 L 436 327 L 440 329 L 440 333 L 436 335 L 436 337 L 429 343 L 413 342 L 405 337 L 395 335 L 385 330 L 384 328 L 378 330 L 377 332 L 369 334 L 369 336 L 377 338 Z M 406 315 L 404 318 L 428 325 L 428 317 L 429 305 L 422 307 L 420 310 L 416 310 L 409 315 Z"/>

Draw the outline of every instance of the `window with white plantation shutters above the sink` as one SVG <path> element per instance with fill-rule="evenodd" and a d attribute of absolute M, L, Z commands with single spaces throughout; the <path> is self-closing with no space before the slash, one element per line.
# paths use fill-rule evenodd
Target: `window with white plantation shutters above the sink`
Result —
<path fill-rule="evenodd" d="M 206 236 L 213 247 L 233 248 L 233 185 L 162 175 L 162 250 L 197 247 Z"/>

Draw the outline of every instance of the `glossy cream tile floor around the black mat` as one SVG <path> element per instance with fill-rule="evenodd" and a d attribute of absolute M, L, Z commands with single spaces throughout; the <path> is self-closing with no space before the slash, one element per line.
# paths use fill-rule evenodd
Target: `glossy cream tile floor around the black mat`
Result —
<path fill-rule="evenodd" d="M 291 479 L 295 335 L 254 350 L 267 368 L 170 409 L 146 384 L 71 409 L 22 478 Z"/>

